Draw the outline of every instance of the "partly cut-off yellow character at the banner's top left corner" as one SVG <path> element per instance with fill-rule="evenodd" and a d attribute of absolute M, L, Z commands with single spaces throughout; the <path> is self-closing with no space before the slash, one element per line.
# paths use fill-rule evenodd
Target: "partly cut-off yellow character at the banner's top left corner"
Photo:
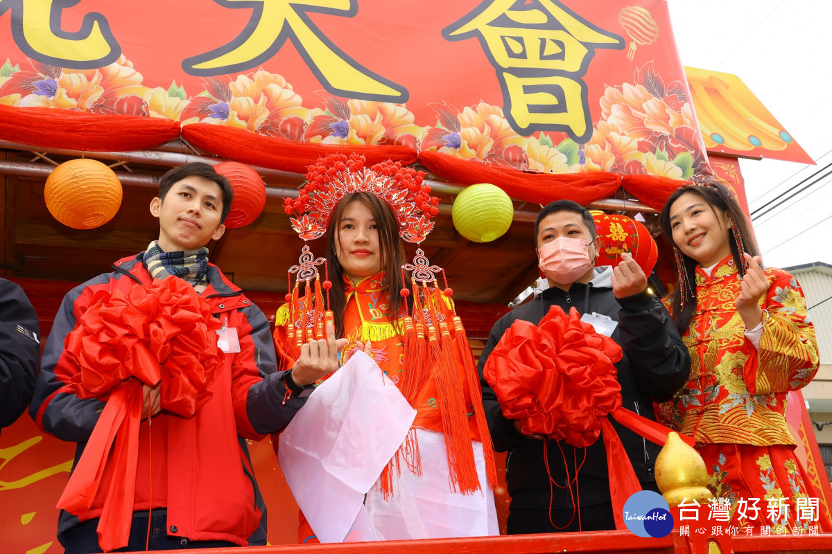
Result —
<path fill-rule="evenodd" d="M 11 12 L 12 37 L 32 60 L 71 69 L 95 69 L 121 56 L 121 47 L 101 13 L 87 13 L 77 32 L 62 29 L 68 3 L 56 0 L 0 0 L 0 16 Z"/>

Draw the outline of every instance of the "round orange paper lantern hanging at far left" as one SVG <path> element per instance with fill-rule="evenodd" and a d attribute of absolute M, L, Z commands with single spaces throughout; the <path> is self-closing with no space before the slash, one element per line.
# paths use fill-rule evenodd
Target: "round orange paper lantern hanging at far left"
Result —
<path fill-rule="evenodd" d="M 121 207 L 121 181 L 95 159 L 71 159 L 52 169 L 43 189 L 52 217 L 74 229 L 93 229 Z"/>

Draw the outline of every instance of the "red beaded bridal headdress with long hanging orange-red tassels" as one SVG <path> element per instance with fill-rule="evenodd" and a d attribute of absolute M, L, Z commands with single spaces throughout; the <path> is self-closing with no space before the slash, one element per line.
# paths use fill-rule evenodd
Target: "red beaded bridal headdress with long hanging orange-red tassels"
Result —
<path fill-rule="evenodd" d="M 399 236 L 409 243 L 422 243 L 433 229 L 431 218 L 438 213 L 439 200 L 431 196 L 430 187 L 423 184 L 423 173 L 399 162 L 384 161 L 371 167 L 365 166 L 366 159 L 359 154 L 330 154 L 317 163 L 310 165 L 306 174 L 308 182 L 300 188 L 298 199 L 285 200 L 285 212 L 295 215 L 291 223 L 300 238 L 311 240 L 321 237 L 329 227 L 334 208 L 346 194 L 367 192 L 375 194 L 392 208 Z M 306 257 L 305 257 L 306 256 Z M 311 252 L 304 247 L 301 263 L 297 267 L 298 277 L 295 287 L 290 287 L 287 302 L 292 305 L 292 321 L 303 321 L 304 329 L 295 328 L 295 344 L 299 349 L 304 341 L 314 338 L 309 329 L 317 329 L 318 321 L 330 321 L 327 297 L 326 311 L 319 316 L 317 306 L 323 305 L 319 295 L 319 276 L 316 266 L 325 261 L 313 259 Z M 293 271 L 295 267 L 292 268 Z M 408 306 L 408 297 L 412 294 L 413 311 L 408 309 L 404 318 L 404 366 L 403 382 L 400 390 L 411 406 L 417 407 L 419 392 L 431 377 L 437 385 L 437 408 L 441 414 L 445 445 L 448 450 L 448 466 L 451 470 L 450 484 L 453 490 L 473 493 L 478 490 L 479 480 L 473 457 L 473 447 L 468 431 L 468 406 L 465 405 L 463 386 L 467 386 L 468 395 L 473 403 L 473 411 L 478 424 L 478 432 L 483 441 L 488 480 L 493 487 L 497 483 L 497 472 L 491 449 L 490 434 L 485 421 L 482 406 L 482 392 L 473 355 L 462 321 L 453 308 L 451 295 L 453 291 L 445 282 L 444 289 L 438 287 L 436 275 L 444 271 L 441 267 L 431 266 L 421 248 L 417 249 L 414 262 L 402 267 L 404 288 L 400 294 L 404 305 Z M 301 277 L 303 275 L 303 277 Z M 309 283 L 314 277 L 314 287 L 305 287 L 304 302 L 300 302 L 298 282 Z M 410 287 L 408 278 L 410 280 Z M 290 283 L 291 284 L 291 283 Z M 329 293 L 329 279 L 324 280 L 324 290 Z M 295 306 L 299 306 L 295 309 Z M 302 307 L 300 307 L 302 306 Z M 315 306 L 314 310 L 310 306 Z M 310 314 L 310 310 L 314 313 Z M 451 314 L 452 321 L 445 313 Z M 449 326 L 453 326 L 452 336 Z M 288 335 L 288 332 L 287 332 Z M 460 379 L 459 365 L 463 367 L 466 384 Z M 384 468 L 380 477 L 385 494 L 394 489 L 394 473 L 399 473 L 399 461 L 402 460 L 415 474 L 421 473 L 418 457 L 418 444 L 411 429 L 394 459 Z"/>

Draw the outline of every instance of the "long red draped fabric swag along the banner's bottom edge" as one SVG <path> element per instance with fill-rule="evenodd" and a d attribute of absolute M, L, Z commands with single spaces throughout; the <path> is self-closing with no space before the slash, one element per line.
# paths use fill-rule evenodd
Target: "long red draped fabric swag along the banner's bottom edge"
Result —
<path fill-rule="evenodd" d="M 433 151 L 418 152 L 403 145 L 322 145 L 277 136 L 257 135 L 225 125 L 195 123 L 131 115 L 99 115 L 52 108 L 0 105 L 0 138 L 24 145 L 90 152 L 154 148 L 181 136 L 201 150 L 260 167 L 305 174 L 320 156 L 342 152 L 363 154 L 369 164 L 385 159 L 403 165 L 421 164 L 451 183 L 495 184 L 514 199 L 545 204 L 570 199 L 583 205 L 625 189 L 641 203 L 661 209 L 685 181 L 654 175 L 585 171 L 544 174 L 459 159 Z"/>

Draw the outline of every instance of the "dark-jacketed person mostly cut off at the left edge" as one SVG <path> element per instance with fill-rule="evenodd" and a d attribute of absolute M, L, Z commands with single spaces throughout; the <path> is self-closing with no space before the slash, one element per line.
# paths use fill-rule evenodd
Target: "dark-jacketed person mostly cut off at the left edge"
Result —
<path fill-rule="evenodd" d="M 0 279 L 0 429 L 32 400 L 40 341 L 37 314 L 23 289 Z"/>

